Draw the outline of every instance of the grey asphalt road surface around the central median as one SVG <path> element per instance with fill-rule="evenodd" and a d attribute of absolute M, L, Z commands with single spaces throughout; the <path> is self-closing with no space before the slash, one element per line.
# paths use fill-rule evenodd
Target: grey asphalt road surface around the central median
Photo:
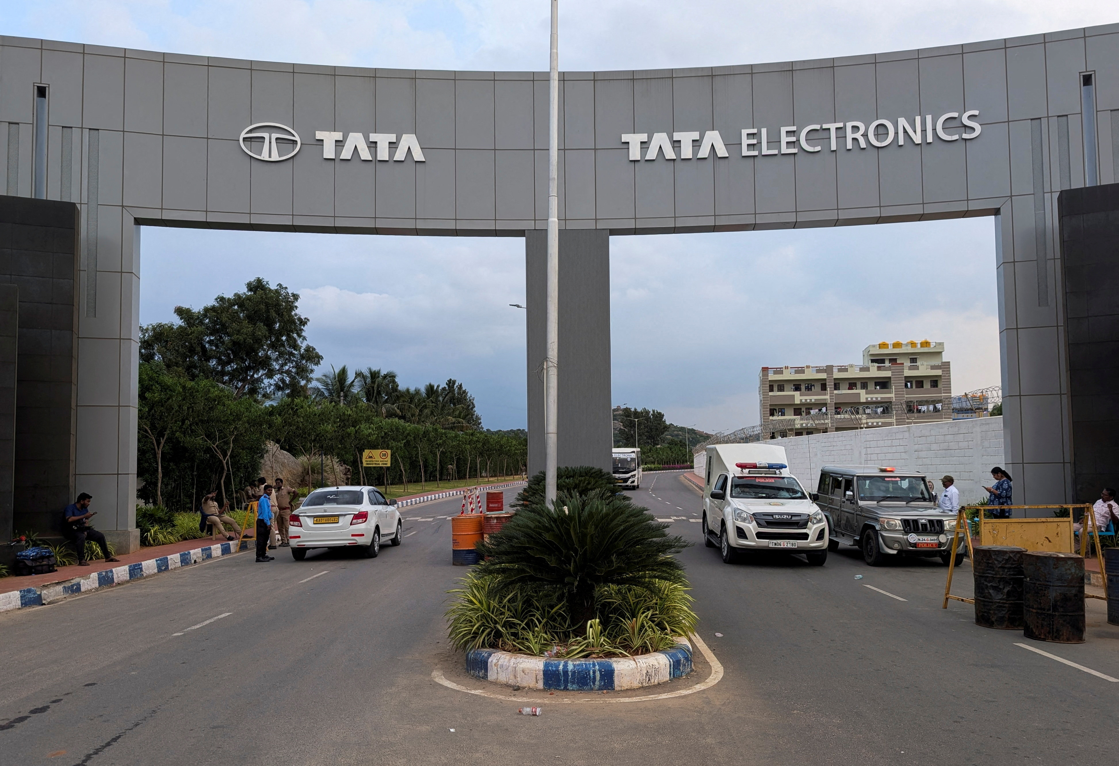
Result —
<path fill-rule="evenodd" d="M 486 685 L 464 678 L 443 631 L 445 592 L 463 571 L 450 566 L 450 521 L 439 518 L 458 511 L 452 499 L 405 509 L 404 545 L 376 559 L 238 555 L 0 615 L 0 760 L 986 766 L 1113 757 L 1119 683 L 1015 645 L 1119 678 L 1119 627 L 1104 623 L 1101 602 L 1089 603 L 1088 643 L 1028 642 L 977 627 L 968 605 L 941 609 L 946 569 L 935 559 L 872 569 L 850 549 L 824 567 L 783 555 L 727 566 L 703 546 L 698 492 L 678 473 L 647 474 L 634 499 L 676 517 L 673 532 L 695 543 L 681 558 L 700 635 L 725 669 L 708 689 L 632 703 L 562 693 L 530 718 L 515 701 L 435 683 L 442 669 Z M 958 583 L 968 594 L 969 565 Z M 698 661 L 695 680 L 708 672 Z"/>

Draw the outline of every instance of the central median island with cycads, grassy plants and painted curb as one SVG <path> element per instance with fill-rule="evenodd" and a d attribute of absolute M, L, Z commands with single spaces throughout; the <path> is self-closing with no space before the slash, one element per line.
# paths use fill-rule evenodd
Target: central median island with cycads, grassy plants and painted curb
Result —
<path fill-rule="evenodd" d="M 676 554 L 689 543 L 589 466 L 560 470 L 554 505 L 538 473 L 513 519 L 478 543 L 451 590 L 448 631 L 467 670 L 510 685 L 599 691 L 686 675 L 695 631 Z"/>

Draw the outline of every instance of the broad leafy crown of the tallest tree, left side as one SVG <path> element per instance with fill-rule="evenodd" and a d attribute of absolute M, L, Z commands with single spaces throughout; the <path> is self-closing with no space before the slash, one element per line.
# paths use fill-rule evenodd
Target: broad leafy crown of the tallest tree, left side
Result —
<path fill-rule="evenodd" d="M 161 361 L 191 380 L 214 380 L 237 397 L 297 393 L 322 362 L 307 343 L 308 320 L 298 304 L 297 293 L 257 277 L 245 292 L 218 295 L 199 311 L 176 306 L 178 323 L 141 328 L 140 359 Z"/>

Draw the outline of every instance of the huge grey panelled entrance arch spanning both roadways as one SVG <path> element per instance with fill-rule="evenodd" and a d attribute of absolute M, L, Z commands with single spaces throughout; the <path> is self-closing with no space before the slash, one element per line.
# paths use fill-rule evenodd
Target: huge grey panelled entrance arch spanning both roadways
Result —
<path fill-rule="evenodd" d="M 140 226 L 526 237 L 535 470 L 546 73 L 12 37 L 0 39 L 0 68 L 7 192 L 43 191 L 82 212 L 75 483 L 103 503 L 103 528 L 135 528 Z M 991 216 L 1016 500 L 1070 499 L 1056 195 L 1117 180 L 1117 25 L 835 59 L 563 73 L 571 357 L 560 360 L 560 431 L 577 441 L 561 443 L 562 460 L 609 455 L 610 236 Z"/>

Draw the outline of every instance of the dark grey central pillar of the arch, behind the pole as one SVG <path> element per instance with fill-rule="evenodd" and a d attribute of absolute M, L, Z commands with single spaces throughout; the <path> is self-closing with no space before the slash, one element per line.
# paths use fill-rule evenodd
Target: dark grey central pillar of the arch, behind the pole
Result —
<path fill-rule="evenodd" d="M 547 233 L 525 233 L 528 473 L 544 470 Z M 560 231 L 560 465 L 611 469 L 610 233 Z"/>

